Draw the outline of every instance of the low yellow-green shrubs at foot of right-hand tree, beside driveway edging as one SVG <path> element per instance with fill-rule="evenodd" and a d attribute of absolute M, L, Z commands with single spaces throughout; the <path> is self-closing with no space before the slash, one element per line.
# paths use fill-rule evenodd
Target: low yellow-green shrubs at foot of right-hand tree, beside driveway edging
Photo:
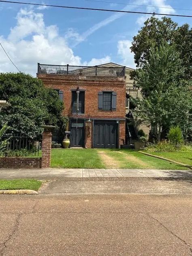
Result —
<path fill-rule="evenodd" d="M 159 141 L 157 144 L 149 144 L 147 149 L 148 152 L 173 152 L 176 151 L 176 147 L 169 141 Z"/>

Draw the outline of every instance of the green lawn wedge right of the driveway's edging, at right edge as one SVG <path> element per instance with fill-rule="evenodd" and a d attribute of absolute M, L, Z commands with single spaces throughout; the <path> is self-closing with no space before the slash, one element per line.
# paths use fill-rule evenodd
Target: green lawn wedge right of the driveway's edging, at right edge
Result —
<path fill-rule="evenodd" d="M 149 152 L 149 154 L 162 156 L 164 158 L 168 158 L 168 159 L 192 166 L 191 152 L 152 152 L 152 153 Z"/>

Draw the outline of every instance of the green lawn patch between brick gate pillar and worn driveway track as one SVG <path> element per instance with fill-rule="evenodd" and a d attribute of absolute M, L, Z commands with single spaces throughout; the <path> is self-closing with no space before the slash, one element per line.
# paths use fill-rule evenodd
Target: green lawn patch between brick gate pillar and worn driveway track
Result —
<path fill-rule="evenodd" d="M 52 149 L 53 168 L 105 168 L 95 149 Z"/>

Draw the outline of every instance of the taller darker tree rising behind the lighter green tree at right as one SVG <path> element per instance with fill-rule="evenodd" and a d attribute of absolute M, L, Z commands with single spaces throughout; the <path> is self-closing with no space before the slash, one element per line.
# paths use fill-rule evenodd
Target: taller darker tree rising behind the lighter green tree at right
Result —
<path fill-rule="evenodd" d="M 170 18 L 156 18 L 154 15 L 147 19 L 143 28 L 133 37 L 131 51 L 134 60 L 140 68 L 149 60 L 149 49 L 162 43 L 175 45 L 179 52 L 182 66 L 185 67 L 184 78 L 192 77 L 192 28 L 188 24 L 181 27 Z M 134 73 L 132 74 L 134 77 Z"/>

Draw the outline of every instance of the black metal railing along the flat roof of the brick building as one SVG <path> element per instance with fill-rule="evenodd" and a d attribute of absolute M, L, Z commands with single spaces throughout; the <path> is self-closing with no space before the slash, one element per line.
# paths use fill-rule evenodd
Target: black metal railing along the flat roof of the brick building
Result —
<path fill-rule="evenodd" d="M 124 67 L 101 67 L 101 66 L 70 66 L 70 65 L 47 65 L 38 63 L 38 74 L 57 75 L 96 75 L 96 76 L 125 76 Z"/>

